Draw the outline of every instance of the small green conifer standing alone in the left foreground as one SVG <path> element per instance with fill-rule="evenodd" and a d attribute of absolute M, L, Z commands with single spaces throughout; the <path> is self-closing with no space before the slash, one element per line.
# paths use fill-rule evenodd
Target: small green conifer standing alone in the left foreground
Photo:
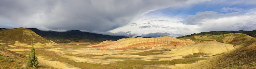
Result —
<path fill-rule="evenodd" d="M 31 52 L 28 54 L 27 66 L 36 67 L 37 64 L 38 64 L 38 60 L 37 60 L 37 57 L 36 57 L 36 52 L 35 52 L 34 45 L 31 45 L 30 50 L 31 50 Z"/>

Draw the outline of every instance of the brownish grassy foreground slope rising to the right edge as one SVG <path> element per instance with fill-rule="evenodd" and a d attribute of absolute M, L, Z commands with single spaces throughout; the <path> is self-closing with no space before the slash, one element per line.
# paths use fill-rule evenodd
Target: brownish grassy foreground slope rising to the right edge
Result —
<path fill-rule="evenodd" d="M 242 69 L 246 69 L 248 65 L 250 65 L 253 62 L 256 62 L 255 57 L 256 39 L 250 38 L 241 41 L 239 44 L 235 46 L 235 49 L 227 53 L 218 55 L 214 58 L 207 59 L 203 62 L 189 65 L 184 69 L 224 69 L 230 65 L 236 65 L 240 66 L 240 68 Z M 255 67 L 247 69 L 255 69 Z"/>

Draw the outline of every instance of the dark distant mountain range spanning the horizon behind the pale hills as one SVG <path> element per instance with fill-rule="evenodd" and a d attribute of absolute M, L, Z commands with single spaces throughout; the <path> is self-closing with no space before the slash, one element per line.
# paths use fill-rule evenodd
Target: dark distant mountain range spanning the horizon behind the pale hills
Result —
<path fill-rule="evenodd" d="M 1 28 L 6 29 L 6 28 Z M 57 31 L 41 31 L 36 28 L 28 28 L 34 31 L 36 34 L 48 39 L 52 40 L 56 43 L 69 43 L 69 42 L 77 42 L 77 41 L 85 41 L 85 42 L 102 42 L 105 40 L 112 40 L 116 41 L 121 38 L 129 38 L 124 36 L 110 36 L 110 35 L 102 35 L 96 34 L 91 32 L 83 32 L 79 30 L 69 30 L 66 32 L 57 32 Z M 253 31 L 210 31 L 210 32 L 201 32 L 201 33 L 194 33 L 191 35 L 181 36 L 177 38 L 184 38 L 184 37 L 191 37 L 194 35 L 205 35 L 205 34 L 212 34 L 212 35 L 220 35 L 220 34 L 228 34 L 228 33 L 243 33 L 247 34 L 252 37 L 256 37 L 256 30 Z M 135 37 L 137 38 L 137 37 Z M 152 38 L 152 37 L 143 37 L 143 38 Z M 154 37 L 153 37 L 154 38 Z"/>

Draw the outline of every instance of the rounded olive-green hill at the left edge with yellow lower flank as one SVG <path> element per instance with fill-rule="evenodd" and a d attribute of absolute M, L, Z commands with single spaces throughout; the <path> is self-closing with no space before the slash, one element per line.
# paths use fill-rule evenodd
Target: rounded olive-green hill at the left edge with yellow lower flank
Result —
<path fill-rule="evenodd" d="M 56 45 L 53 41 L 49 41 L 34 31 L 27 28 L 14 28 L 0 31 L 1 43 L 18 44 L 18 45 Z"/>

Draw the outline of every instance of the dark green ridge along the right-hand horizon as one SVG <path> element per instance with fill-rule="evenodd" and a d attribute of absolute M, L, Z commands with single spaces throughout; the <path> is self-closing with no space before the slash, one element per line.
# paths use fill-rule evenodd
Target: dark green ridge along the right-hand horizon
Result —
<path fill-rule="evenodd" d="M 256 30 L 253 30 L 253 31 L 239 30 L 239 31 L 210 31 L 210 32 L 201 32 L 201 33 L 194 33 L 194 34 L 191 34 L 191 35 L 181 36 L 181 37 L 178 37 L 178 38 L 191 37 L 191 36 L 194 36 L 194 35 L 206 35 L 206 34 L 220 35 L 220 34 L 228 34 L 228 33 L 242 33 L 242 34 L 247 34 L 247 35 L 252 36 L 252 37 L 256 37 Z"/>

